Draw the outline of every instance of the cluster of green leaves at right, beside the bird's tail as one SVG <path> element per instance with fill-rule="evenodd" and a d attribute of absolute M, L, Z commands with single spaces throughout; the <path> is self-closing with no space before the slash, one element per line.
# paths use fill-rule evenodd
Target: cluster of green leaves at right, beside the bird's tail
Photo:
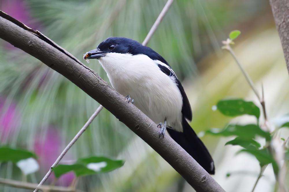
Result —
<path fill-rule="evenodd" d="M 233 140 L 228 141 L 225 145 L 238 145 L 243 149 L 240 152 L 246 152 L 253 155 L 260 163 L 260 166 L 272 163 L 275 173 L 278 171 L 278 166 L 267 146 L 261 148 L 261 144 L 256 141 L 256 138 L 264 138 L 266 142 L 270 142 L 272 135 L 264 131 L 258 125 L 260 118 L 260 109 L 252 101 L 244 101 L 243 99 L 223 99 L 218 101 L 216 109 L 222 114 L 230 117 L 240 115 L 253 115 L 257 118 L 256 124 L 235 125 L 229 124 L 223 129 L 210 129 L 206 133 L 218 136 L 236 136 Z M 289 127 L 289 122 L 281 127 Z M 288 153 L 286 153 L 288 154 Z"/>

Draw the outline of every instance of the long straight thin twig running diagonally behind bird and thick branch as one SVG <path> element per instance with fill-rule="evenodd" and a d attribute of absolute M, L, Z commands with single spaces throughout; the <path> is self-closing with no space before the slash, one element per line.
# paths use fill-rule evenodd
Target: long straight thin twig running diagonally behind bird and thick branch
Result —
<path fill-rule="evenodd" d="M 158 16 L 158 18 L 156 19 L 155 23 L 153 24 L 153 26 L 151 27 L 151 30 L 149 31 L 149 33 L 147 34 L 147 37 L 144 39 L 144 41 L 142 42 L 143 46 L 146 46 L 147 43 L 149 42 L 149 40 L 151 39 L 153 33 L 155 32 L 155 30 L 158 28 L 158 26 L 160 25 L 160 22 L 162 21 L 162 19 L 164 18 L 166 12 L 168 11 L 168 9 L 170 8 L 171 4 L 173 3 L 173 0 L 168 0 L 166 5 L 164 6 L 162 12 L 160 13 L 160 15 Z M 59 157 L 56 159 L 56 161 L 53 163 L 53 165 L 50 167 L 49 171 L 47 172 L 47 174 L 44 176 L 44 178 L 40 181 L 40 183 L 38 184 L 38 186 L 36 187 L 36 189 L 34 190 L 34 192 L 38 191 L 39 186 L 41 186 L 51 175 L 53 168 L 61 161 L 61 159 L 63 158 L 63 156 L 66 154 L 66 152 L 71 148 L 71 146 L 77 141 L 77 139 L 80 137 L 80 135 L 86 130 L 86 128 L 90 125 L 90 123 L 93 121 L 93 119 L 99 114 L 99 112 L 103 109 L 103 106 L 100 105 L 97 110 L 92 114 L 92 116 L 88 119 L 88 121 L 86 122 L 86 124 L 84 125 L 84 127 L 82 127 L 80 129 L 80 131 L 75 135 L 75 137 L 73 138 L 73 140 L 71 140 L 71 142 L 66 146 L 66 148 L 62 151 L 62 153 L 59 155 Z"/>

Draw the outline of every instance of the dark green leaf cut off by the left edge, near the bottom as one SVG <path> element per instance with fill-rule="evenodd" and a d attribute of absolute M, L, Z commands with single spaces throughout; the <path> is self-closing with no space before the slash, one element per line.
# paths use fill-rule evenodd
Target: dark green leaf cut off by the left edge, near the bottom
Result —
<path fill-rule="evenodd" d="M 34 153 L 27 150 L 14 149 L 10 147 L 0 147 L 0 162 L 12 161 L 13 163 L 17 163 L 21 159 L 27 159 L 29 157 L 37 158 Z"/>

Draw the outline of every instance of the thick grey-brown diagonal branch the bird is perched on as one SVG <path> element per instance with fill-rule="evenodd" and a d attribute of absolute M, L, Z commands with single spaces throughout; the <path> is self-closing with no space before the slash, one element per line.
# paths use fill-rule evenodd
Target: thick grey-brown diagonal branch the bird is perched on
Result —
<path fill-rule="evenodd" d="M 0 38 L 36 57 L 65 76 L 159 153 L 196 191 L 224 189 L 168 135 L 158 138 L 157 126 L 112 89 L 98 74 L 38 31 L 0 11 Z"/>

